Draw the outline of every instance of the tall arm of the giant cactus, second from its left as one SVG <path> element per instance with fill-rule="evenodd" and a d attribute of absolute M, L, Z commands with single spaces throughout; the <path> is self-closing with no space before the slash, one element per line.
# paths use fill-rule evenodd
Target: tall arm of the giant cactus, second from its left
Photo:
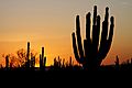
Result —
<path fill-rule="evenodd" d="M 77 44 L 78 44 L 80 59 L 84 59 L 84 51 L 82 51 L 81 36 L 80 36 L 79 15 L 76 16 L 76 35 L 77 35 Z"/>

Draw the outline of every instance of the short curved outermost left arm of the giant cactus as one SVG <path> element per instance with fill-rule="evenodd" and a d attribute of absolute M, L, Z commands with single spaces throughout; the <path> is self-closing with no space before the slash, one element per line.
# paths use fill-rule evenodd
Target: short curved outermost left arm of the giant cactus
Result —
<path fill-rule="evenodd" d="M 75 33 L 73 32 L 72 34 L 72 37 L 73 37 L 73 48 L 74 48 L 74 55 L 75 55 L 75 58 L 78 63 L 82 63 L 81 59 L 79 58 L 79 55 L 78 55 L 78 51 L 77 51 L 77 45 L 76 45 L 76 37 L 75 37 Z"/>

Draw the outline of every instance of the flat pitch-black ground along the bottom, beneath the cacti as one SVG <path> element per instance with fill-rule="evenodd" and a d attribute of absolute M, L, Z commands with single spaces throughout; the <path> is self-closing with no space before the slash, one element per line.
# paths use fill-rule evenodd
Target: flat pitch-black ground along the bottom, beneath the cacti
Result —
<path fill-rule="evenodd" d="M 127 86 L 132 82 L 132 70 L 0 70 L 0 84 L 18 84 L 20 86 L 45 86 L 52 87 L 70 87 L 81 86 L 91 88 Z M 63 86 L 61 86 L 63 85 Z M 107 86 L 105 86 L 107 85 Z M 26 87 L 26 86 L 25 86 Z M 129 87 L 129 88 L 130 88 Z"/>

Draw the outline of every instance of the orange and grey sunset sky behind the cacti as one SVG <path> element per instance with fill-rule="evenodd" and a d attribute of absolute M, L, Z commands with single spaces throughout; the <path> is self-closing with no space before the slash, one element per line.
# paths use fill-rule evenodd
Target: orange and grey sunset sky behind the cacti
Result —
<path fill-rule="evenodd" d="M 132 0 L 0 0 L 0 57 L 26 48 L 26 42 L 31 42 L 31 48 L 38 53 L 45 47 L 47 65 L 58 55 L 75 59 L 72 47 L 75 16 L 80 15 L 85 37 L 85 16 L 92 13 L 95 4 L 101 22 L 106 7 L 116 18 L 112 46 L 103 64 L 113 64 L 116 55 L 122 62 L 131 58 Z"/>

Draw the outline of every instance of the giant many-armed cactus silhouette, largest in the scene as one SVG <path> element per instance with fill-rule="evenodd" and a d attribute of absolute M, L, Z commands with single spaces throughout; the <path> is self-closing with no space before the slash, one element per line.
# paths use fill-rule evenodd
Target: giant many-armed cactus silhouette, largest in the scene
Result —
<path fill-rule="evenodd" d="M 102 32 L 100 37 L 100 15 L 97 15 L 97 6 L 94 7 L 94 19 L 90 21 L 90 12 L 86 15 L 86 38 L 84 40 L 84 50 L 80 35 L 79 15 L 76 16 L 76 36 L 73 32 L 73 48 L 75 58 L 84 68 L 96 69 L 100 66 L 102 59 L 107 56 L 113 36 L 114 18 L 110 19 L 110 31 L 108 36 L 109 26 L 109 8 L 106 8 L 105 21 L 102 22 Z M 90 35 L 90 25 L 92 24 L 92 35 Z M 77 44 L 76 44 L 77 41 Z M 100 43 L 99 43 L 100 41 Z"/>

